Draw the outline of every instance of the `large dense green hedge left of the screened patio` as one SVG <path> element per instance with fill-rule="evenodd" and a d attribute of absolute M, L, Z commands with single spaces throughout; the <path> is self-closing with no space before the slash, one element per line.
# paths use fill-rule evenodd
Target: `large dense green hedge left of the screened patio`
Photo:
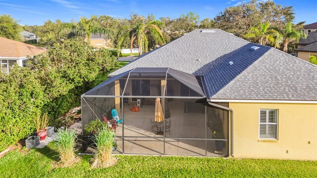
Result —
<path fill-rule="evenodd" d="M 9 75 L 1 74 L 0 151 L 30 135 L 40 113 L 47 112 L 50 124 L 58 124 L 57 118 L 80 105 L 80 95 L 97 75 L 117 65 L 107 49 L 65 40 L 30 58 L 27 67 L 15 65 Z"/>

